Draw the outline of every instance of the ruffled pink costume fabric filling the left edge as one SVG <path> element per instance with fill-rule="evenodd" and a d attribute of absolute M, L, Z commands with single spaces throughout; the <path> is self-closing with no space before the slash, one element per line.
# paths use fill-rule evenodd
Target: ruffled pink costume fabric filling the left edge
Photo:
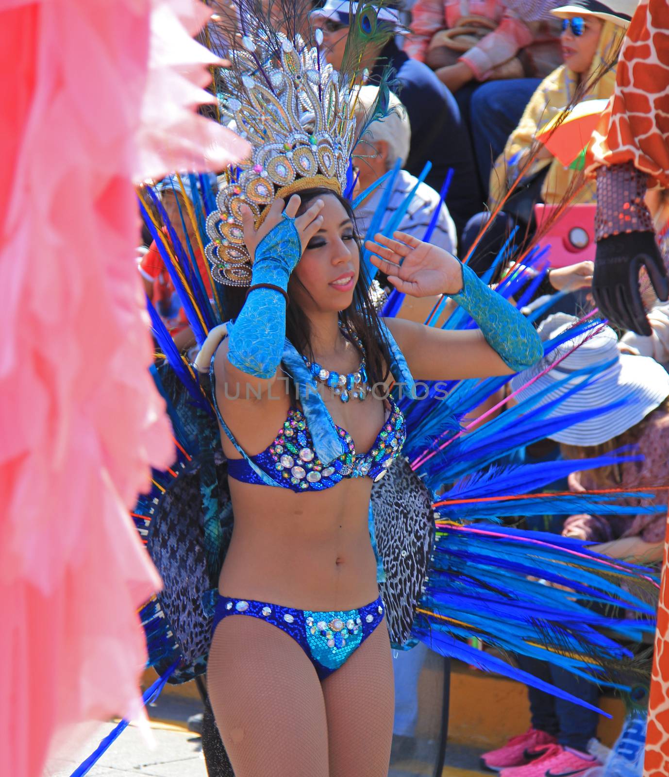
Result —
<path fill-rule="evenodd" d="M 128 509 L 172 459 L 133 183 L 246 147 L 193 113 L 193 0 L 0 0 L 0 774 L 137 713 L 160 586 Z"/>

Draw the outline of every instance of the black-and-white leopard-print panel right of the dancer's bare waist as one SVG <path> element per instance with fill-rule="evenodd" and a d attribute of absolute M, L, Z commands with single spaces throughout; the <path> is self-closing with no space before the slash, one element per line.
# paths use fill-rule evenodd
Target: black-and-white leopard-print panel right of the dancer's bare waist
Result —
<path fill-rule="evenodd" d="M 385 582 L 379 589 L 385 603 L 390 641 L 395 647 L 412 642 L 411 627 L 420 599 L 434 541 L 430 492 L 405 458 L 371 490 L 376 542 Z"/>

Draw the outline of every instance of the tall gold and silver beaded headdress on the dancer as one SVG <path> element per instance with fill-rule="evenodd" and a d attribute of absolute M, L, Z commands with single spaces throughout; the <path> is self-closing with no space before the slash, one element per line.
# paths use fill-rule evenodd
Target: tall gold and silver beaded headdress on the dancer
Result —
<path fill-rule="evenodd" d="M 278 43 L 278 45 L 277 45 Z M 249 159 L 226 172 L 218 211 L 207 218 L 205 253 L 222 284 L 248 286 L 251 260 L 242 231 L 242 204 L 260 225 L 277 197 L 314 186 L 341 194 L 347 187 L 356 122 L 356 87 L 324 64 L 317 47 L 259 30 L 223 71 L 225 110 L 252 148 Z"/>

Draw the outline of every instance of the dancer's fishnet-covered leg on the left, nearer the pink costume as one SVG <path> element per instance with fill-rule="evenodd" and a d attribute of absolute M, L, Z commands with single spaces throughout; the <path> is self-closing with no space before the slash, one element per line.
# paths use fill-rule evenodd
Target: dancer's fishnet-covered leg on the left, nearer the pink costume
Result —
<path fill-rule="evenodd" d="M 321 684 L 291 636 L 258 618 L 225 618 L 207 686 L 235 777 L 329 777 Z"/>

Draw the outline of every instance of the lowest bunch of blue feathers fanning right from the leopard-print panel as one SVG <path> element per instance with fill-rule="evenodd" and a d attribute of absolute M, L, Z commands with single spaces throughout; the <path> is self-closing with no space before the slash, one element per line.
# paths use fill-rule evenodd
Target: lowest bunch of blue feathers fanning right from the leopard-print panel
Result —
<path fill-rule="evenodd" d="M 616 670 L 629 667 L 631 654 L 601 630 L 632 640 L 654 630 L 653 605 L 621 587 L 625 580 L 657 585 L 642 567 L 606 559 L 573 538 L 437 521 L 414 632 L 444 655 L 466 657 L 535 687 L 534 678 L 464 641 L 477 636 L 503 653 L 549 660 L 601 685 L 624 688 Z M 611 618 L 591 609 L 593 603 L 638 615 Z"/>

